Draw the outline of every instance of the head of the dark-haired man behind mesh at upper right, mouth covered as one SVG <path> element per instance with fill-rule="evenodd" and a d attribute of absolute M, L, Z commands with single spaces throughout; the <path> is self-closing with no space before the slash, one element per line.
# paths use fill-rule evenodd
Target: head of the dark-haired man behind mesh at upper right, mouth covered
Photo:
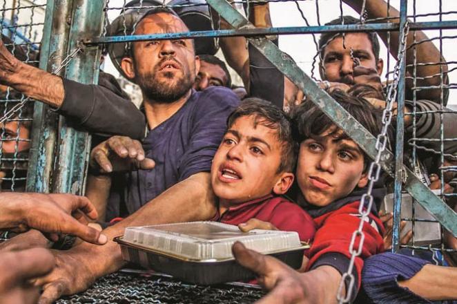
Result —
<path fill-rule="evenodd" d="M 343 17 L 344 24 L 360 23 L 360 20 L 351 17 Z M 334 19 L 326 26 L 334 26 L 342 23 L 342 19 Z M 344 42 L 344 43 L 343 43 Z M 320 36 L 320 77 L 329 82 L 342 82 L 354 84 L 353 68 L 361 65 L 375 69 L 378 74 L 382 73 L 384 63 L 379 58 L 379 40 L 376 32 L 328 32 Z"/>

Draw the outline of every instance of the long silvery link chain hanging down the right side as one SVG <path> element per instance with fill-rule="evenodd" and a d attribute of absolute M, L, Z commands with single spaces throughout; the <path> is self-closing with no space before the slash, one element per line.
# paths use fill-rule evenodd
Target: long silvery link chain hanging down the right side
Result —
<path fill-rule="evenodd" d="M 392 113 L 392 108 L 393 108 L 393 103 L 396 100 L 396 95 L 397 95 L 397 87 L 398 87 L 398 80 L 400 76 L 400 67 L 402 66 L 403 61 L 405 60 L 405 50 L 406 50 L 406 37 L 409 32 L 409 25 L 408 22 L 405 23 L 405 28 L 401 32 L 401 41 L 402 41 L 402 49 L 398 53 L 398 61 L 396 63 L 396 66 L 393 71 L 393 84 L 389 86 L 389 91 L 387 93 L 387 99 L 386 99 L 386 107 L 384 111 L 382 111 L 382 130 L 381 133 L 378 135 L 376 138 L 376 150 L 378 151 L 376 158 L 373 162 L 371 162 L 369 173 L 368 173 L 368 178 L 369 178 L 369 184 L 368 184 L 368 190 L 367 193 L 365 193 L 362 198 L 360 199 L 360 205 L 358 208 L 358 213 L 360 217 L 360 223 L 358 226 L 358 229 L 353 232 L 352 238 L 351 238 L 351 243 L 349 244 L 349 252 L 351 253 L 351 260 L 349 262 L 349 267 L 347 269 L 347 272 L 345 272 L 342 275 L 341 281 L 340 281 L 340 286 L 338 287 L 338 294 L 336 296 L 338 303 L 348 303 L 349 300 L 351 299 L 352 296 L 352 291 L 353 291 L 353 286 L 356 283 L 356 278 L 354 278 L 352 271 L 354 267 L 354 262 L 358 256 L 362 253 L 363 249 L 363 242 L 364 242 L 364 233 L 363 233 L 363 226 L 364 223 L 367 222 L 369 219 L 369 214 L 371 212 L 371 207 L 373 205 L 373 196 L 371 195 L 371 192 L 373 190 L 373 186 L 375 182 L 378 181 L 380 173 L 381 173 L 381 165 L 380 165 L 380 159 L 382 152 L 385 151 L 387 142 L 388 142 L 388 136 L 387 136 L 387 131 L 389 129 L 389 125 L 391 124 L 393 113 Z M 357 238 L 360 238 L 360 241 L 358 243 L 358 247 L 356 247 L 356 240 Z M 347 294 L 346 296 L 343 295 L 343 290 L 344 287 L 346 286 L 346 282 L 349 281 L 347 285 Z"/>

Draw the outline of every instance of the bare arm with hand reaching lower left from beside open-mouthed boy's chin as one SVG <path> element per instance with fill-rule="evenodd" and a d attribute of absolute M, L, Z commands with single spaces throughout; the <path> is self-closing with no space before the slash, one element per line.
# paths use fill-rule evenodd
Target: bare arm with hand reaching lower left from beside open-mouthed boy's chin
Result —
<path fill-rule="evenodd" d="M 124 265 L 115 236 L 130 226 L 155 225 L 168 222 L 208 220 L 215 214 L 215 199 L 209 173 L 197 173 L 175 184 L 144 205 L 131 216 L 103 231 L 108 243 L 96 247 L 83 243 L 69 251 L 56 253 L 61 267 L 39 280 L 44 285 L 40 303 L 53 303 L 62 294 L 74 294 L 88 288 L 95 279 L 115 272 Z"/>

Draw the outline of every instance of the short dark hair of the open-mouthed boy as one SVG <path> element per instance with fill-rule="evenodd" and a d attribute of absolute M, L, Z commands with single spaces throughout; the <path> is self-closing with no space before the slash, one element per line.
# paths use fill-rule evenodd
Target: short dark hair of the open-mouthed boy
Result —
<path fill-rule="evenodd" d="M 280 108 L 264 99 L 249 97 L 228 116 L 227 129 L 235 120 L 244 116 L 255 116 L 255 125 L 262 124 L 276 131 L 278 140 L 282 143 L 280 172 L 293 172 L 298 152 L 298 144 L 293 139 L 291 118 Z"/>

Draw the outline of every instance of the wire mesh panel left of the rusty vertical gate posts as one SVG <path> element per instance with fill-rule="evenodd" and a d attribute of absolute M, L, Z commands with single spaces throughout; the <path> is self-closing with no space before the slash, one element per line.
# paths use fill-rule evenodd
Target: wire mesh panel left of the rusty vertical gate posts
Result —
<path fill-rule="evenodd" d="M 1 1 L 0 32 L 10 52 L 27 64 L 38 66 L 46 1 Z M 8 115 L 19 104 L 19 111 Z M 26 96 L 0 88 L 0 170 L 2 191 L 24 191 L 34 102 Z"/>

